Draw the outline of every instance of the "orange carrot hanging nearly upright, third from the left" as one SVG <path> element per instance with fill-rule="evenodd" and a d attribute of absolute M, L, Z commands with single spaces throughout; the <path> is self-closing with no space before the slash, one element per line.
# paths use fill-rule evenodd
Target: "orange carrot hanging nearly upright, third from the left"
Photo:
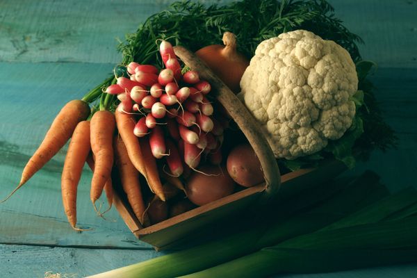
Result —
<path fill-rule="evenodd" d="M 90 142 L 92 154 L 95 156 L 95 169 L 92 174 L 90 199 L 93 204 L 99 199 L 106 181 L 111 177 L 114 131 L 115 117 L 113 113 L 97 111 L 92 115 Z"/>

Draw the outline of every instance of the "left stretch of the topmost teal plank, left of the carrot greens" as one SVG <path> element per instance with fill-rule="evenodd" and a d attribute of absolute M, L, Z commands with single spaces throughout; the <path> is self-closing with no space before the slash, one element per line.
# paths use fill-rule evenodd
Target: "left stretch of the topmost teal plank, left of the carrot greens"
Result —
<path fill-rule="evenodd" d="M 1 1 L 0 59 L 118 63 L 116 38 L 171 1 Z"/>

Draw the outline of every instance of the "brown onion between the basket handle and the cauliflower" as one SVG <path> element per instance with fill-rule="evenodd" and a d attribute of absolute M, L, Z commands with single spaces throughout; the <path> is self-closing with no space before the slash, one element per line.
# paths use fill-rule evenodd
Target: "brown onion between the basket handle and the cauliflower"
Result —
<path fill-rule="evenodd" d="M 240 92 L 240 79 L 242 79 L 250 61 L 240 54 L 236 47 L 236 35 L 225 32 L 223 43 L 208 45 L 195 52 L 200 59 L 211 68 L 232 92 Z"/>

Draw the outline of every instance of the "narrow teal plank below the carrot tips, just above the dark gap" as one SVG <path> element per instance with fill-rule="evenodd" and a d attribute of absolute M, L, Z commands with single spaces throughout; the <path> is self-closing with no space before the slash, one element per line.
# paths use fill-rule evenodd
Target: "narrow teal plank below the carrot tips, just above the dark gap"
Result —
<path fill-rule="evenodd" d="M 38 203 L 36 200 L 32 204 Z M 57 204 L 58 205 L 58 204 Z M 52 211 L 60 211 L 50 207 Z M 80 213 L 81 215 L 85 213 Z M 81 227 L 90 231 L 76 232 L 60 218 L 46 217 L 21 211 L 0 211 L 0 243 L 32 244 L 52 247 L 79 246 L 92 248 L 120 248 L 131 250 L 151 250 L 152 246 L 138 241 L 129 230 L 124 229 L 124 222 L 117 213 L 106 215 L 114 220 L 111 225 L 81 221 Z"/>

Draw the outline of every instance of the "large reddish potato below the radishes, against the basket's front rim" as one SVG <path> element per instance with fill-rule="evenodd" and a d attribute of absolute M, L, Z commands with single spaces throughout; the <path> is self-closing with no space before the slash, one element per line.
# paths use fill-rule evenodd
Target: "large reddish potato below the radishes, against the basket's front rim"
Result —
<path fill-rule="evenodd" d="M 208 204 L 233 193 L 235 183 L 227 171 L 215 165 L 199 167 L 186 182 L 188 199 L 197 206 Z M 200 173 L 203 172 L 204 174 Z"/>

